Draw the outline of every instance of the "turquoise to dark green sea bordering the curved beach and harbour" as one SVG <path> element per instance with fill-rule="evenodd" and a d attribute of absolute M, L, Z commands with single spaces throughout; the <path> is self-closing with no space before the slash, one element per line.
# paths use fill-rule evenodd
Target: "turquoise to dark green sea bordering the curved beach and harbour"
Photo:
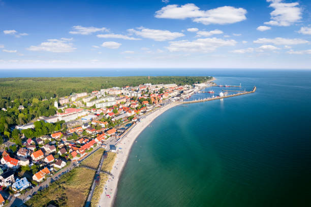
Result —
<path fill-rule="evenodd" d="M 114 205 L 311 206 L 311 72 L 199 73 L 257 91 L 155 119 L 133 145 Z"/>

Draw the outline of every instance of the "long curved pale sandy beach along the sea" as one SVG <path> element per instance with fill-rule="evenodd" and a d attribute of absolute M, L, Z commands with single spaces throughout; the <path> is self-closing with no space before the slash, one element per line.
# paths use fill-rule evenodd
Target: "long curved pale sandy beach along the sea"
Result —
<path fill-rule="evenodd" d="M 116 197 L 117 193 L 117 185 L 119 178 L 121 176 L 122 170 L 125 167 L 128 156 L 131 152 L 131 148 L 133 143 L 135 142 L 137 136 L 159 115 L 161 115 L 163 112 L 169 110 L 172 107 L 175 107 L 177 105 L 173 105 L 170 103 L 169 105 L 166 105 L 163 108 L 160 108 L 159 110 L 149 114 L 146 116 L 146 118 L 142 119 L 141 122 L 138 122 L 136 126 L 133 127 L 133 129 L 125 136 L 123 139 L 116 145 L 117 149 L 120 147 L 122 148 L 121 153 L 118 153 L 113 165 L 113 168 L 111 170 L 111 174 L 114 176 L 114 178 L 109 177 L 109 180 L 104 186 L 103 193 L 101 195 L 99 205 L 100 207 L 106 207 L 106 206 L 112 206 L 114 199 Z"/>

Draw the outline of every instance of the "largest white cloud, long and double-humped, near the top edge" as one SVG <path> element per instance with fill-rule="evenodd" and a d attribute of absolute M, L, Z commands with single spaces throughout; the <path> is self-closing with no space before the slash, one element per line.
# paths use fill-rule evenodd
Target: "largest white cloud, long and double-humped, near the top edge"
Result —
<path fill-rule="evenodd" d="M 202 24 L 230 24 L 246 19 L 246 10 L 230 6 L 218 7 L 210 10 L 200 10 L 194 4 L 168 5 L 155 12 L 157 18 L 186 19 L 193 18 L 194 22 Z"/>

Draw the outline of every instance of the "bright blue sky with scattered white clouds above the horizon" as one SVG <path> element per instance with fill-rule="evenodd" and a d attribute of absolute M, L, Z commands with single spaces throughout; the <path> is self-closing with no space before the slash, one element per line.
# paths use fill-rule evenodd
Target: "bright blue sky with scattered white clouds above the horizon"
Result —
<path fill-rule="evenodd" d="M 0 68 L 311 68 L 311 1 L 0 0 Z"/>

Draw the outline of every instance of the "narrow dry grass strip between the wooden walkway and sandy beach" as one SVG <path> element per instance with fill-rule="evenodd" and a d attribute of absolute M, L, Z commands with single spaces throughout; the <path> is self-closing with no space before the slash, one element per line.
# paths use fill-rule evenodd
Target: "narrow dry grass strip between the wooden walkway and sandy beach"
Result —
<path fill-rule="evenodd" d="M 114 164 L 114 160 L 116 158 L 116 154 L 113 152 L 108 152 L 107 158 L 104 159 L 102 170 L 111 171 L 112 166 Z M 91 200 L 91 206 L 97 206 L 99 203 L 99 199 L 103 193 L 103 189 L 108 180 L 108 176 L 106 174 L 101 173 L 101 182 L 98 186 L 95 187 L 94 194 Z"/>

